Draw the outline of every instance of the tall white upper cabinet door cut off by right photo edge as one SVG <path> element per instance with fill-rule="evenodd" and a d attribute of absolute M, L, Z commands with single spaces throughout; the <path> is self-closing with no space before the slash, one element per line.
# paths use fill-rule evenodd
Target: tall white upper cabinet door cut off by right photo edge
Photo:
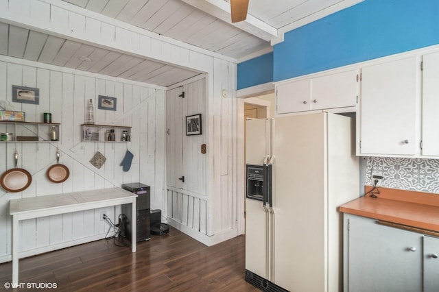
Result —
<path fill-rule="evenodd" d="M 439 156 L 439 52 L 423 56 L 423 155 Z"/>

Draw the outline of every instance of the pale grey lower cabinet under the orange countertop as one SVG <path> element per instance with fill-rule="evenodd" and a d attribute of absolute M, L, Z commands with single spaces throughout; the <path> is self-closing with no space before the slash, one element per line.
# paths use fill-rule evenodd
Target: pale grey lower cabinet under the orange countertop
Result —
<path fill-rule="evenodd" d="M 344 291 L 438 291 L 439 238 L 344 214 Z"/>

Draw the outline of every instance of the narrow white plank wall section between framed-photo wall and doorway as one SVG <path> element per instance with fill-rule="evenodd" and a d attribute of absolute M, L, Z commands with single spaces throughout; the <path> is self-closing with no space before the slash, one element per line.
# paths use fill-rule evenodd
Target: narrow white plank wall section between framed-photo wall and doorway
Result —
<path fill-rule="evenodd" d="M 224 60 L 215 60 L 214 73 L 209 78 L 209 83 L 213 84 L 213 94 L 209 95 L 208 107 L 211 122 L 209 145 L 213 152 L 213 165 L 209 173 L 209 192 L 213 194 L 213 202 L 209 204 L 209 213 L 216 215 L 210 217 L 208 235 L 212 236 L 226 231 L 236 231 L 238 214 L 244 219 L 244 208 L 237 209 L 238 201 L 244 201 L 244 194 L 238 192 L 239 183 L 243 183 L 241 176 L 244 173 L 244 167 L 239 168 L 239 154 L 244 149 L 237 148 L 244 132 L 238 132 L 236 65 Z M 223 90 L 227 91 L 227 97 L 222 97 Z"/>

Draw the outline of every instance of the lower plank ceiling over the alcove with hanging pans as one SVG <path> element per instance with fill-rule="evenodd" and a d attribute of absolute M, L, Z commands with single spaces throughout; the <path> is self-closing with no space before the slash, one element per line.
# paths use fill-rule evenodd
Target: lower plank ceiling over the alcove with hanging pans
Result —
<path fill-rule="evenodd" d="M 0 23 L 0 55 L 171 86 L 200 72 Z M 86 57 L 88 59 L 81 60 Z"/>

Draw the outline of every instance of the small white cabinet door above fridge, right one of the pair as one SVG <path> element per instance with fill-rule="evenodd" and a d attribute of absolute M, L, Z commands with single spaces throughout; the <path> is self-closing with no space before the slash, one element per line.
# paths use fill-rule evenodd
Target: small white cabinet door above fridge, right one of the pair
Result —
<path fill-rule="evenodd" d="M 311 80 L 311 109 L 356 106 L 359 93 L 356 69 Z"/>

